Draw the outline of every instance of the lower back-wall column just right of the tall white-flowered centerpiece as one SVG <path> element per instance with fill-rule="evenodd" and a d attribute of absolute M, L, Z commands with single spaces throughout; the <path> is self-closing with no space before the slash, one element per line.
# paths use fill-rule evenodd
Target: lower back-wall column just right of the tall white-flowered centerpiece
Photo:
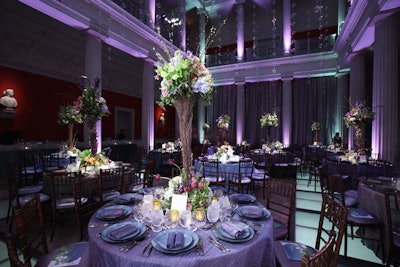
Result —
<path fill-rule="evenodd" d="M 292 81 L 293 78 L 282 79 L 282 133 L 283 145 L 290 146 L 292 128 Z"/>

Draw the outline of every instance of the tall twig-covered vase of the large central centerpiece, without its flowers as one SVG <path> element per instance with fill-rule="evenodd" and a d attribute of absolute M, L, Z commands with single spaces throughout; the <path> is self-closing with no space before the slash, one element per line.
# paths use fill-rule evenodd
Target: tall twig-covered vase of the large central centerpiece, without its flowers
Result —
<path fill-rule="evenodd" d="M 174 106 L 178 113 L 179 120 L 179 135 L 182 142 L 182 167 L 186 172 L 184 175 L 189 179 L 190 169 L 192 167 L 192 120 L 193 120 L 193 107 L 195 98 L 178 97 Z"/>

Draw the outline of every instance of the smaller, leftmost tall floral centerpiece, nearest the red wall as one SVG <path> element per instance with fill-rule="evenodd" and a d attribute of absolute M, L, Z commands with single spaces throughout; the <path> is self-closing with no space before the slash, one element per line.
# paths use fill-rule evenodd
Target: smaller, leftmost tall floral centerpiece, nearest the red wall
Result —
<path fill-rule="evenodd" d="M 57 123 L 68 125 L 68 149 L 74 149 L 74 124 L 82 123 L 82 115 L 79 110 L 74 109 L 74 106 L 66 105 L 60 106 L 58 111 Z"/>

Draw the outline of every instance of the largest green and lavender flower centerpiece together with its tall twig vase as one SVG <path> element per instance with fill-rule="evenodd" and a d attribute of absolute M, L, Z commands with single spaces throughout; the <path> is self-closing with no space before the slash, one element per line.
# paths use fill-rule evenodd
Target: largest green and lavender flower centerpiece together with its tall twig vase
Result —
<path fill-rule="evenodd" d="M 211 74 L 197 56 L 180 50 L 175 51 L 172 56 L 167 49 L 165 50 L 168 60 L 157 54 L 160 62 L 157 64 L 155 79 L 162 79 L 158 104 L 160 107 L 174 106 L 178 113 L 183 172 L 188 172 L 192 164 L 194 103 L 197 99 L 202 99 L 208 104 L 212 98 L 214 83 Z"/>

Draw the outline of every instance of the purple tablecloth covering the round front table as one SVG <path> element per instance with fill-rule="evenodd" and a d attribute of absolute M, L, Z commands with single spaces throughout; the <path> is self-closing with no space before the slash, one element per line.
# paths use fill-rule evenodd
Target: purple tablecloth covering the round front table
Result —
<path fill-rule="evenodd" d="M 124 221 L 134 220 L 133 216 L 128 216 Z M 121 220 L 119 220 L 121 221 Z M 273 238 L 273 220 L 269 217 L 260 221 L 263 227 L 254 226 L 262 233 L 244 243 L 229 243 L 220 240 L 225 246 L 231 249 L 224 253 L 214 245 L 208 242 L 208 236 L 215 236 L 211 230 L 199 229 L 195 233 L 202 238 L 204 247 L 204 256 L 196 254 L 196 248 L 179 254 L 164 254 L 153 249 L 149 257 L 143 256 L 142 251 L 149 241 L 155 236 L 152 230 L 147 229 L 144 241 L 127 253 L 120 252 L 123 244 L 110 244 L 96 237 L 96 234 L 104 228 L 88 228 L 89 246 L 92 266 L 275 266 L 274 238 Z M 89 225 L 105 223 L 92 216 Z M 179 227 L 179 226 L 178 226 Z"/>

